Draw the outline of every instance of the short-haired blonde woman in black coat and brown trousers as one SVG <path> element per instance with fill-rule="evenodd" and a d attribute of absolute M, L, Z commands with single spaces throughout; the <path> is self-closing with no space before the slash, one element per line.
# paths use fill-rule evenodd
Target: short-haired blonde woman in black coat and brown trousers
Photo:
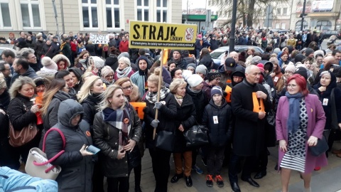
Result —
<path fill-rule="evenodd" d="M 175 118 L 175 146 L 173 158 L 175 164 L 175 176 L 171 183 L 176 183 L 185 175 L 186 186 L 193 185 L 190 171 L 192 171 L 192 149 L 186 147 L 183 133 L 195 124 L 195 105 L 192 97 L 186 93 L 187 82 L 183 79 L 174 79 L 169 86 L 176 100 L 177 115 Z M 183 162 L 183 160 L 184 162 Z M 184 166 L 183 166 L 184 163 Z"/>

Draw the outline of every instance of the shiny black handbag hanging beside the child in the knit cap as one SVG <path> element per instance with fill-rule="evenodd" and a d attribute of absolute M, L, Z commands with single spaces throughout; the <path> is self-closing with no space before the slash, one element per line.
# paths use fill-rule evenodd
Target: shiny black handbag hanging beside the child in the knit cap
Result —
<path fill-rule="evenodd" d="M 208 144 L 207 128 L 204 125 L 193 125 L 183 133 L 186 140 L 186 146 L 196 147 Z"/>

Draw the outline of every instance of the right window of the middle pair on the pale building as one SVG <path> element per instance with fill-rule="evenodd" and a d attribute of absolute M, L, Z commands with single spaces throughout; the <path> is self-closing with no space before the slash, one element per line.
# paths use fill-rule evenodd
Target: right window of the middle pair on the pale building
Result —
<path fill-rule="evenodd" d="M 119 28 L 119 0 L 106 0 L 107 28 Z"/>

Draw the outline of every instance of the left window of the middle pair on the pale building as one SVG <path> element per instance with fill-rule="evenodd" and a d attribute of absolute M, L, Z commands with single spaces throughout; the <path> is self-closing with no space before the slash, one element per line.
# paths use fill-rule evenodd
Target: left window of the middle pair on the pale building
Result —
<path fill-rule="evenodd" d="M 98 28 L 97 0 L 82 0 L 83 26 Z"/>

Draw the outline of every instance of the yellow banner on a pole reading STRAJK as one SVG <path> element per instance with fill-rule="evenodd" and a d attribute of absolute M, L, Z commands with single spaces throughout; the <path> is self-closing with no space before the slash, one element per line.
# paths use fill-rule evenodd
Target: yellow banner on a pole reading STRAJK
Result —
<path fill-rule="evenodd" d="M 130 21 L 129 48 L 193 50 L 197 25 Z"/>

